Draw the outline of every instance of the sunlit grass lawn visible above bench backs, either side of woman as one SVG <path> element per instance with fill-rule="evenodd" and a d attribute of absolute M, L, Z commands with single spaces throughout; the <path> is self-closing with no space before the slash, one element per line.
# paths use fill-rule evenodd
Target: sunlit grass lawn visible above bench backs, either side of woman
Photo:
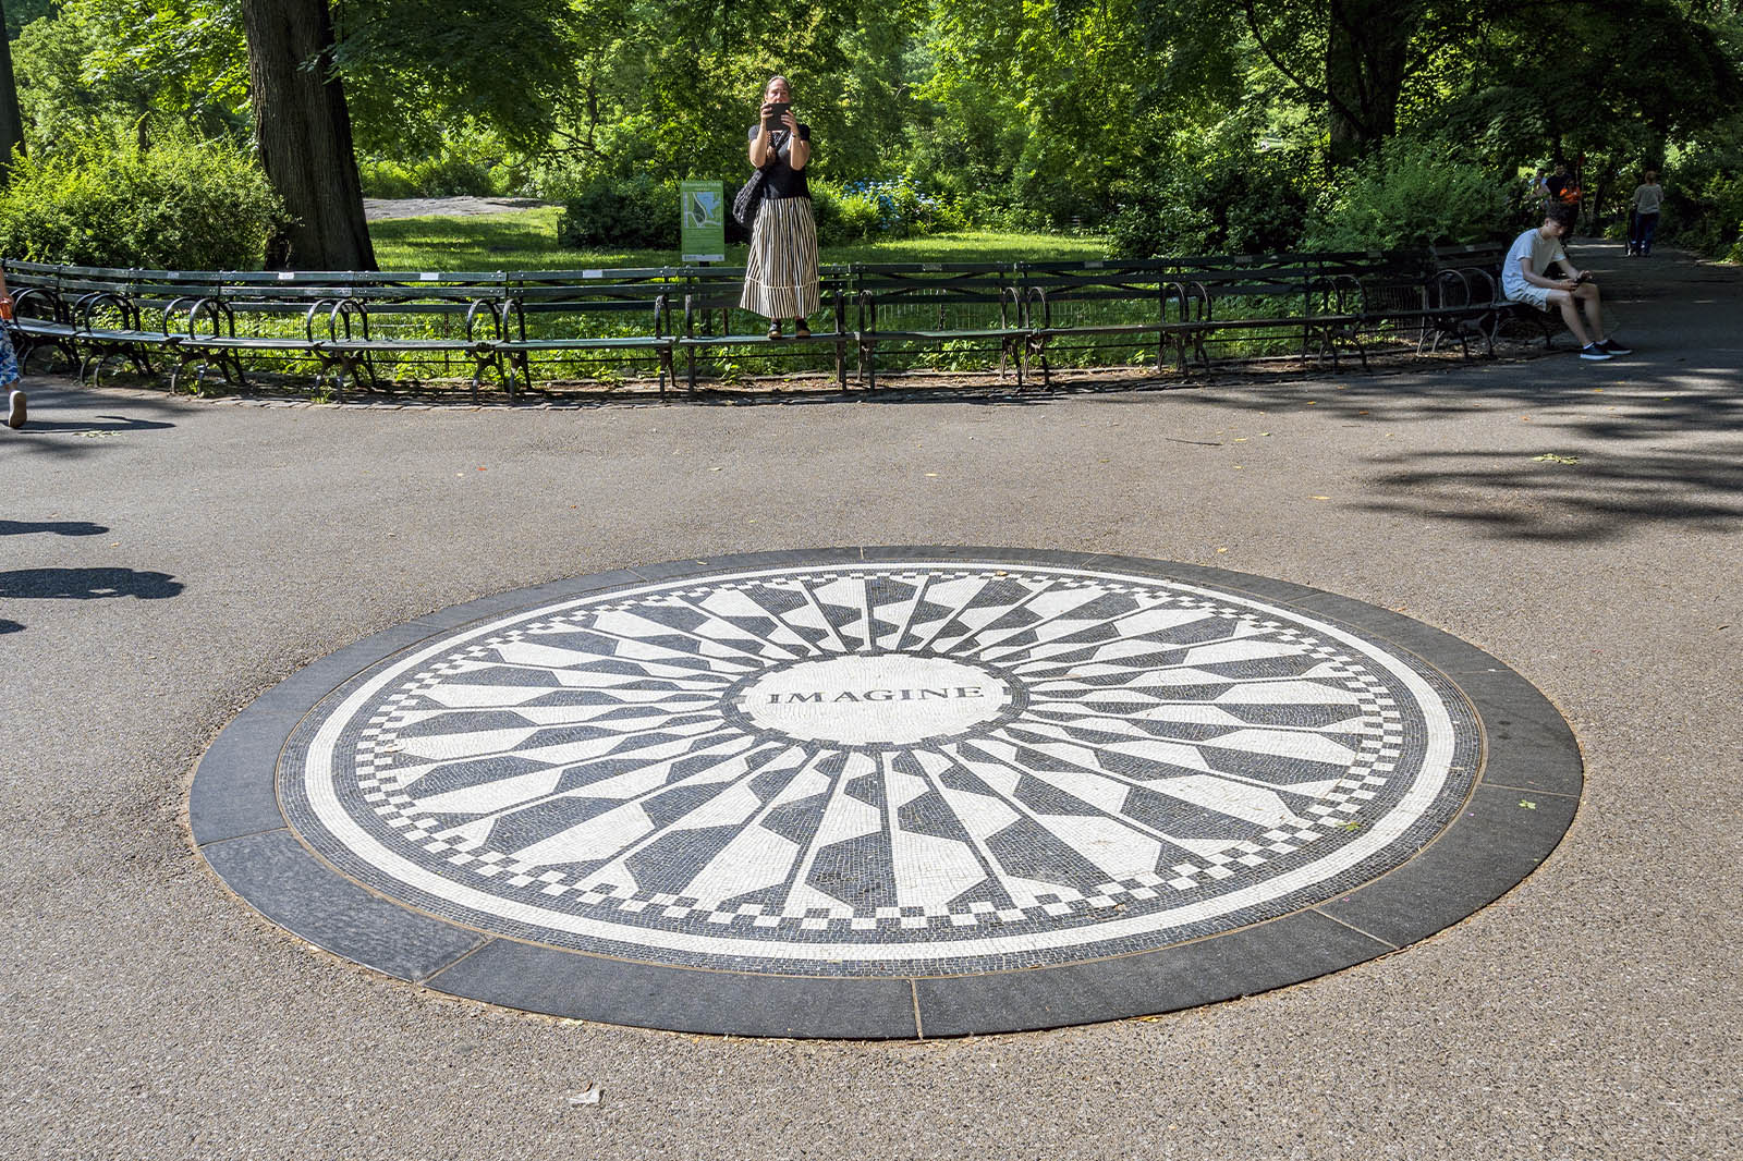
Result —
<path fill-rule="evenodd" d="M 556 244 L 554 206 L 476 218 L 394 218 L 370 223 L 383 270 L 584 270 L 596 267 L 675 267 L 673 249 L 566 249 Z M 729 265 L 744 265 L 744 246 L 727 248 Z M 824 248 L 828 263 L 849 261 L 1018 261 L 1103 258 L 1095 235 L 1000 234 L 969 230 Z"/>

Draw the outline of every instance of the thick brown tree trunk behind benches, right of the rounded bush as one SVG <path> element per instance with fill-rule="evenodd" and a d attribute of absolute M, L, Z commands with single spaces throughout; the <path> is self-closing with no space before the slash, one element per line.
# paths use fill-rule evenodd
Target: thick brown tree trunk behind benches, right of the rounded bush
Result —
<path fill-rule="evenodd" d="M 375 270 L 328 0 L 242 0 L 242 30 L 260 162 L 295 218 L 267 265 Z"/>

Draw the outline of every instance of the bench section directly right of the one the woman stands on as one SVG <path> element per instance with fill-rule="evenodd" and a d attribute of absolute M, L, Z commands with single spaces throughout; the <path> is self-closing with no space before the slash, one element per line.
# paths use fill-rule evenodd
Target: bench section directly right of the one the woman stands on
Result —
<path fill-rule="evenodd" d="M 1014 368 L 1016 387 L 1023 389 L 1032 331 L 1011 267 L 980 261 L 854 265 L 852 291 L 859 316 L 854 347 L 868 389 L 877 389 L 878 343 L 943 349 L 960 343 L 987 350 L 997 343 L 999 378 Z"/>

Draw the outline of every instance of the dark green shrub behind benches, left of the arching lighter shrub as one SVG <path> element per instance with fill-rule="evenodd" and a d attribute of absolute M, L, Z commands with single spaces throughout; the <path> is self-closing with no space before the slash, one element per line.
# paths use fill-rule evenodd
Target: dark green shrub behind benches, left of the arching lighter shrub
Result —
<path fill-rule="evenodd" d="M 1175 139 L 1154 178 L 1121 183 L 1107 225 L 1121 258 L 1262 255 L 1295 249 L 1307 216 L 1302 157 L 1260 148 L 1232 117 L 1204 138 Z"/>

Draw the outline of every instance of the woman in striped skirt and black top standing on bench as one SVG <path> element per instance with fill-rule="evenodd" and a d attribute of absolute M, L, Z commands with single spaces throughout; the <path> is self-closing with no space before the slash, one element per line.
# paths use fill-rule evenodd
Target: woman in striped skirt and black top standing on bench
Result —
<path fill-rule="evenodd" d="M 786 77 L 763 85 L 762 117 L 751 127 L 751 166 L 762 169 L 762 206 L 751 227 L 751 258 L 744 267 L 739 307 L 769 324 L 781 338 L 781 319 L 793 319 L 793 335 L 810 338 L 805 316 L 817 310 L 817 223 L 810 216 L 810 126 L 793 117 Z"/>

